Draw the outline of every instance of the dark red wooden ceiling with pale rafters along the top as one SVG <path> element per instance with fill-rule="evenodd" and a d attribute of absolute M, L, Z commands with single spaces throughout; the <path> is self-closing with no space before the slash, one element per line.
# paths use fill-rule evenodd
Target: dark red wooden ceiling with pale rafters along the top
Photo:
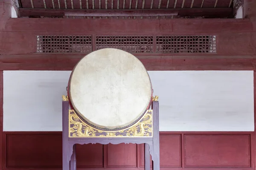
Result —
<path fill-rule="evenodd" d="M 233 1 L 18 0 L 18 3 L 20 17 L 232 18 Z"/>

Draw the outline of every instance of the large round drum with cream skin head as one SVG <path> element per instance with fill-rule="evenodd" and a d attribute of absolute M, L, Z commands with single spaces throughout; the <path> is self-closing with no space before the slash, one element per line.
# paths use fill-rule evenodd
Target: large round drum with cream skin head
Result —
<path fill-rule="evenodd" d="M 115 48 L 83 57 L 67 89 L 71 108 L 100 130 L 121 130 L 136 123 L 150 107 L 153 93 L 140 60 Z"/>

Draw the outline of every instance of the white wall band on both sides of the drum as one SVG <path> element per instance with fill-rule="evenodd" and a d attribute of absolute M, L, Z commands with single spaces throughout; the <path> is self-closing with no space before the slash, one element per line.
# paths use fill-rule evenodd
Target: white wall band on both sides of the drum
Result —
<path fill-rule="evenodd" d="M 3 130 L 61 131 L 71 71 L 4 71 Z M 253 71 L 148 71 L 160 131 L 253 131 Z"/>

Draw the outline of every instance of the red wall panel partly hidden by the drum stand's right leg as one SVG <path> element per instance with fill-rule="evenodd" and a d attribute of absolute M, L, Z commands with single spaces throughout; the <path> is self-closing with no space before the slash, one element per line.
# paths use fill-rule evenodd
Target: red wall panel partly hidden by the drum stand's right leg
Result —
<path fill-rule="evenodd" d="M 180 135 L 160 134 L 160 167 L 181 167 Z M 144 167 L 144 144 L 141 145 L 141 167 Z"/>

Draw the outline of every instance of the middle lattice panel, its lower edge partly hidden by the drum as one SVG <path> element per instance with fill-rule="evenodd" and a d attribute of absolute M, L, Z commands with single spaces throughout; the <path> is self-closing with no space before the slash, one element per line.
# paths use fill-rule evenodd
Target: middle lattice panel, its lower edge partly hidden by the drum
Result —
<path fill-rule="evenodd" d="M 117 48 L 129 53 L 153 53 L 153 36 L 96 36 L 96 50 Z"/>

